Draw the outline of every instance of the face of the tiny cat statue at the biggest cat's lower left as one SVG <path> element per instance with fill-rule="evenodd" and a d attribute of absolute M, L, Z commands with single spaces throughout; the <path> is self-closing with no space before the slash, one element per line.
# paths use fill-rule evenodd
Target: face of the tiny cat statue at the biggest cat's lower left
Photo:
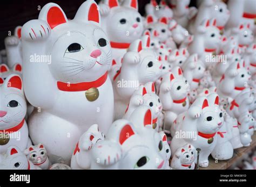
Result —
<path fill-rule="evenodd" d="M 36 146 L 30 146 L 25 150 L 24 153 L 28 155 L 28 160 L 30 160 L 33 164 L 43 163 L 47 159 L 47 151 L 42 143 Z"/>

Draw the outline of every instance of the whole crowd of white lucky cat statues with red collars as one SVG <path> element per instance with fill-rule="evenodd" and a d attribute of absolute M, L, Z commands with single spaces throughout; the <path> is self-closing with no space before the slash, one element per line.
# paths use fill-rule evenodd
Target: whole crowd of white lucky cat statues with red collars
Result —
<path fill-rule="evenodd" d="M 0 169 L 195 169 L 250 146 L 253 0 L 55 3 L 5 39 Z M 255 3 L 255 2 L 254 2 Z"/>

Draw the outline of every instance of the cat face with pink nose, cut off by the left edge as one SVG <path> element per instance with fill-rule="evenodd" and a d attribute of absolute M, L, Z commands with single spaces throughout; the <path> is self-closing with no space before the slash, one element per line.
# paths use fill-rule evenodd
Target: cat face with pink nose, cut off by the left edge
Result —
<path fill-rule="evenodd" d="M 5 130 L 21 123 L 26 114 L 21 77 L 9 75 L 1 85 L 0 92 L 0 129 Z"/>

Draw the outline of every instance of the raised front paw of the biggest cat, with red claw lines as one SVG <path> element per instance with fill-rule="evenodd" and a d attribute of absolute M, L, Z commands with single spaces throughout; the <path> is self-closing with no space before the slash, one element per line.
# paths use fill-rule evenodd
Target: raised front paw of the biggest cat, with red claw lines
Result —
<path fill-rule="evenodd" d="M 51 28 L 43 20 L 30 20 L 22 27 L 22 39 L 28 41 L 45 40 L 51 34 Z"/>

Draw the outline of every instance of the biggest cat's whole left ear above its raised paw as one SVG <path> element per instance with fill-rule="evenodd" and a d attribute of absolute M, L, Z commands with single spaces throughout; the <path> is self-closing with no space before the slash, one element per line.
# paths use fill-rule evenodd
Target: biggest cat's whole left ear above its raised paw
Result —
<path fill-rule="evenodd" d="M 55 3 L 46 4 L 39 13 L 38 19 L 47 21 L 51 29 L 68 22 L 62 8 Z"/>

